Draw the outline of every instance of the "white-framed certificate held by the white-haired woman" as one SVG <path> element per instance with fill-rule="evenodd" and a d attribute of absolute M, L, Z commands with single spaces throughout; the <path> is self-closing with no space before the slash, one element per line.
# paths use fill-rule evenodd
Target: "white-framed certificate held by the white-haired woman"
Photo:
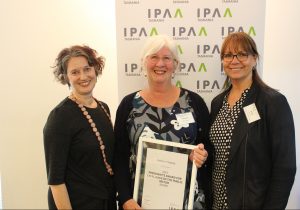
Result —
<path fill-rule="evenodd" d="M 141 137 L 133 198 L 144 209 L 193 209 L 195 145 Z"/>

